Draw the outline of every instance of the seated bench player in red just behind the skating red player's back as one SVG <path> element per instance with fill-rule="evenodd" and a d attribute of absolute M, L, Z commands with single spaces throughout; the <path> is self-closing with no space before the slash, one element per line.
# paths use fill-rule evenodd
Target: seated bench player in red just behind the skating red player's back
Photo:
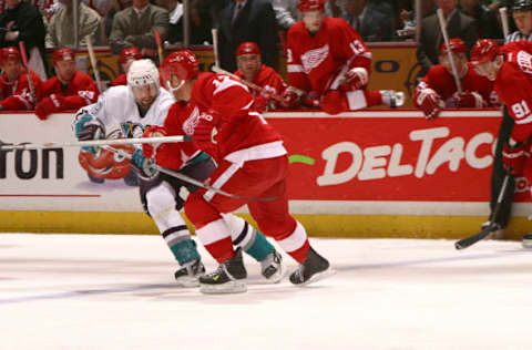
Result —
<path fill-rule="evenodd" d="M 275 110 L 278 102 L 272 99 L 272 95 L 282 95 L 287 85 L 283 78 L 270 66 L 260 62 L 260 49 L 255 42 L 243 42 L 236 50 L 236 64 L 238 70 L 236 75 L 264 89 L 264 92 L 254 94 L 255 102 L 253 106 L 258 112 Z"/>

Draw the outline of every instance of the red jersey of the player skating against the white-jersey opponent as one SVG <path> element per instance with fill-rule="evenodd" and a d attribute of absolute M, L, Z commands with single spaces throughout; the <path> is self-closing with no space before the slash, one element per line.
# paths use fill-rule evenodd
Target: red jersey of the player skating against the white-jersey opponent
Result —
<path fill-rule="evenodd" d="M 286 154 L 280 135 L 252 109 L 253 102 L 247 86 L 236 79 L 202 73 L 194 83 L 191 97 L 197 113 L 192 113 L 185 121 L 184 131 L 187 135 L 193 134 L 200 119 L 208 120 L 205 115 L 212 115 L 221 158 L 241 163 Z"/>

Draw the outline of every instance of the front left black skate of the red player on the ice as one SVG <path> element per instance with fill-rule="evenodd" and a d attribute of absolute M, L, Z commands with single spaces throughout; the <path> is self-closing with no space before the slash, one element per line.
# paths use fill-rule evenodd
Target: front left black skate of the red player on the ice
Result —
<path fill-rule="evenodd" d="M 246 277 L 242 248 L 238 248 L 232 259 L 219 264 L 215 271 L 200 277 L 200 291 L 204 294 L 244 292 L 247 290 Z"/>

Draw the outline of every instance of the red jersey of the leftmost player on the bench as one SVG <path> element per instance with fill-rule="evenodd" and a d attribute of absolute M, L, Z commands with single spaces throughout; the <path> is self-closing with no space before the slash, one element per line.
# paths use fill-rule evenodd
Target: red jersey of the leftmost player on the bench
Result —
<path fill-rule="evenodd" d="M 42 97 L 42 81 L 33 71 L 30 71 L 33 81 L 33 90 L 37 101 L 33 101 L 30 94 L 30 84 L 28 75 L 20 74 L 14 82 L 8 82 L 6 73 L 0 79 L 1 99 L 0 104 L 4 111 L 34 110 L 37 102 Z"/>

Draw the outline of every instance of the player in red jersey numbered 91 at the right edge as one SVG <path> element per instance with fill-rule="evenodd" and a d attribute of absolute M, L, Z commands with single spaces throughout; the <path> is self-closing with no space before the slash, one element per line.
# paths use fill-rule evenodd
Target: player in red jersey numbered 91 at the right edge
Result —
<path fill-rule="evenodd" d="M 471 62 L 480 75 L 493 82 L 514 121 L 502 150 L 504 167 L 532 184 L 532 42 L 510 42 L 501 49 L 493 40 L 482 39 L 471 50 Z M 523 246 L 532 247 L 531 234 L 523 236 Z"/>

